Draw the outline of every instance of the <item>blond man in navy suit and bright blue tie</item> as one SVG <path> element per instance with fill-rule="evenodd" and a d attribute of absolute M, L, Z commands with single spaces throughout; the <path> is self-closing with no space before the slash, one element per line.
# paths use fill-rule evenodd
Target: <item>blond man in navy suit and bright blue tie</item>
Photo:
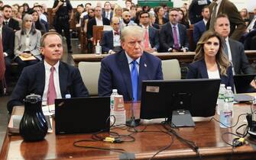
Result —
<path fill-rule="evenodd" d="M 99 74 L 99 96 L 109 96 L 117 89 L 125 101 L 141 99 L 143 80 L 163 79 L 161 61 L 144 52 L 144 30 L 128 26 L 122 30 L 122 50 L 102 59 Z"/>

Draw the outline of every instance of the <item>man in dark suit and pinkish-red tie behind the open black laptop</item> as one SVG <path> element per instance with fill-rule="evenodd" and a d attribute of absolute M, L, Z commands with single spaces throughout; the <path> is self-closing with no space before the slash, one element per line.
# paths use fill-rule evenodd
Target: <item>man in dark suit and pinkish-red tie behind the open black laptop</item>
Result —
<path fill-rule="evenodd" d="M 24 105 L 23 99 L 29 94 L 39 94 L 42 104 L 54 104 L 55 98 L 87 97 L 89 93 L 83 84 L 79 70 L 60 62 L 63 55 L 62 37 L 48 32 L 41 38 L 41 53 L 44 62 L 26 67 L 8 101 L 8 111 L 14 106 Z"/>

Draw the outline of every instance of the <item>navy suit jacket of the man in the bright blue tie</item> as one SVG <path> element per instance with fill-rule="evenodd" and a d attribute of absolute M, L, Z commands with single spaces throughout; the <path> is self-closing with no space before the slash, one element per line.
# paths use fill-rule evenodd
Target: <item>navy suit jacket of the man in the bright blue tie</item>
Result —
<path fill-rule="evenodd" d="M 141 82 L 144 80 L 163 79 L 160 59 L 144 52 L 140 59 L 138 100 L 141 99 Z M 102 59 L 99 74 L 99 96 L 110 96 L 112 89 L 118 89 L 125 101 L 132 100 L 131 73 L 125 51 Z"/>

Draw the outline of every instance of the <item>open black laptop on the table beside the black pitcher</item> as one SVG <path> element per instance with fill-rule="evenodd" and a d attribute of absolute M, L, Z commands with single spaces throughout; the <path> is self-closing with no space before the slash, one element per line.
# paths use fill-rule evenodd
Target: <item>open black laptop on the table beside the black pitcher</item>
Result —
<path fill-rule="evenodd" d="M 56 99 L 55 133 L 109 131 L 109 115 L 109 97 Z"/>

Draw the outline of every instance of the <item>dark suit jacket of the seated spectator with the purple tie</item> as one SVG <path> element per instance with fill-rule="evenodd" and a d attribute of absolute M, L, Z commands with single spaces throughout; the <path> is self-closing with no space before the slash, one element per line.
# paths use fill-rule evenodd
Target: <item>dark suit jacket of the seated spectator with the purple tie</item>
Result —
<path fill-rule="evenodd" d="M 178 24 L 179 34 L 180 34 L 180 46 L 189 49 L 189 39 L 186 36 L 186 27 L 183 24 Z M 161 52 L 168 52 L 169 48 L 173 48 L 173 30 L 170 22 L 164 24 L 160 29 L 160 48 Z"/>

